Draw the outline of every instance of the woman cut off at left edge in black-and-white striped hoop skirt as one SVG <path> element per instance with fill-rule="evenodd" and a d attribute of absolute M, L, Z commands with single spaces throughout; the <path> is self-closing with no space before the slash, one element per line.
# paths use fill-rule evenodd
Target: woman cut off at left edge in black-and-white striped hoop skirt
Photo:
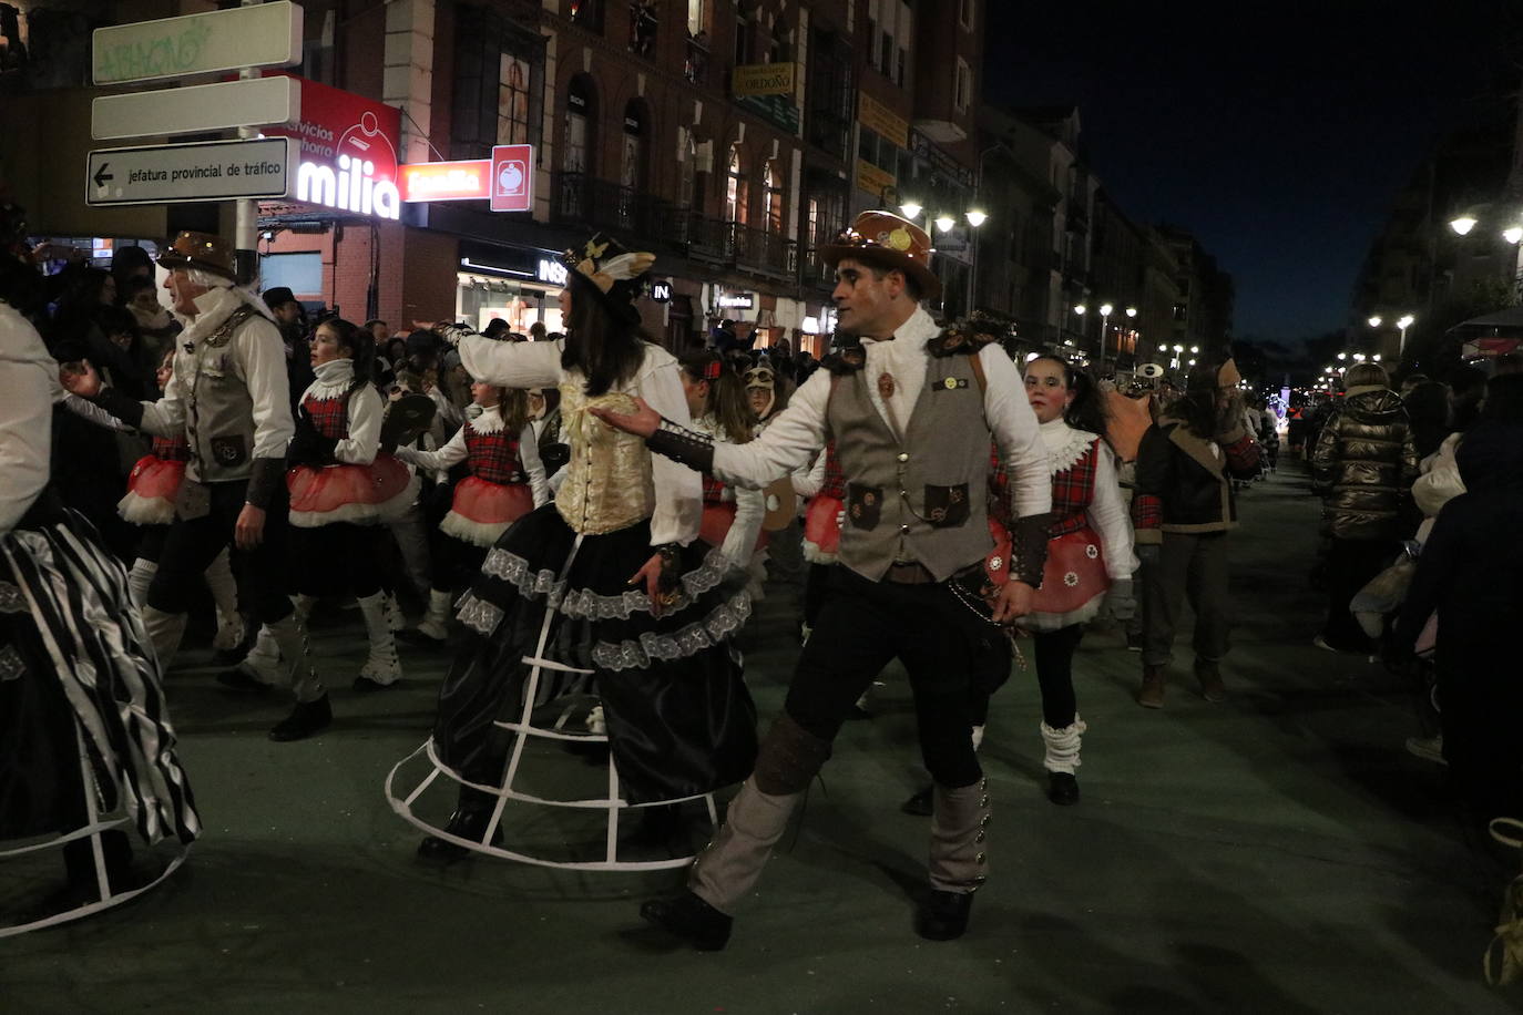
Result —
<path fill-rule="evenodd" d="M 20 231 L 8 216 L 0 243 Z M 61 848 L 69 884 L 0 913 L 0 937 L 157 883 L 168 870 L 134 869 L 129 831 L 148 845 L 200 831 L 126 569 L 49 488 L 58 365 L 17 309 L 35 292 L 18 254 L 0 247 L 0 863 Z"/>

